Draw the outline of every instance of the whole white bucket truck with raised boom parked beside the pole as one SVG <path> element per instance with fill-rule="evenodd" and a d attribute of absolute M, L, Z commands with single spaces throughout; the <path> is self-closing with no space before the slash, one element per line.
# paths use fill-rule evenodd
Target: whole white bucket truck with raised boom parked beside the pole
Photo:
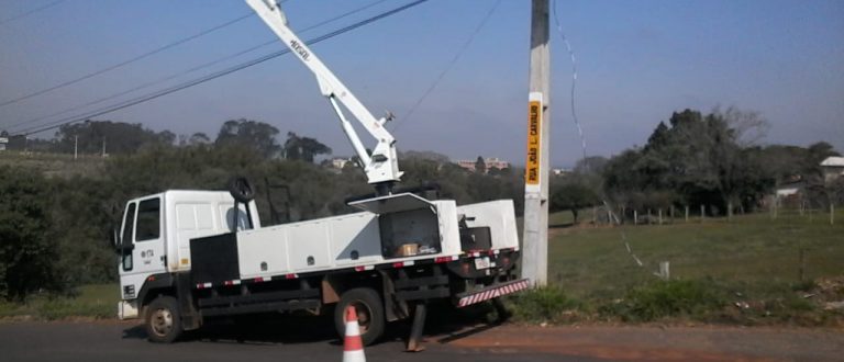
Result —
<path fill-rule="evenodd" d="M 367 344 L 387 321 L 412 314 L 408 349 L 417 350 L 427 301 L 465 307 L 526 289 L 514 268 L 512 201 L 457 206 L 393 192 L 402 172 L 384 127 L 389 118 L 368 112 L 287 26 L 276 3 L 246 2 L 316 76 L 376 194 L 348 202 L 359 213 L 269 227 L 262 227 L 244 179 L 233 179 L 229 192 L 170 190 L 131 200 L 113 241 L 119 317 L 144 318 L 151 341 L 171 342 L 212 317 L 322 314 L 333 306 L 342 336 L 343 310 L 353 306 Z M 341 103 L 378 140 L 371 155 Z"/>

